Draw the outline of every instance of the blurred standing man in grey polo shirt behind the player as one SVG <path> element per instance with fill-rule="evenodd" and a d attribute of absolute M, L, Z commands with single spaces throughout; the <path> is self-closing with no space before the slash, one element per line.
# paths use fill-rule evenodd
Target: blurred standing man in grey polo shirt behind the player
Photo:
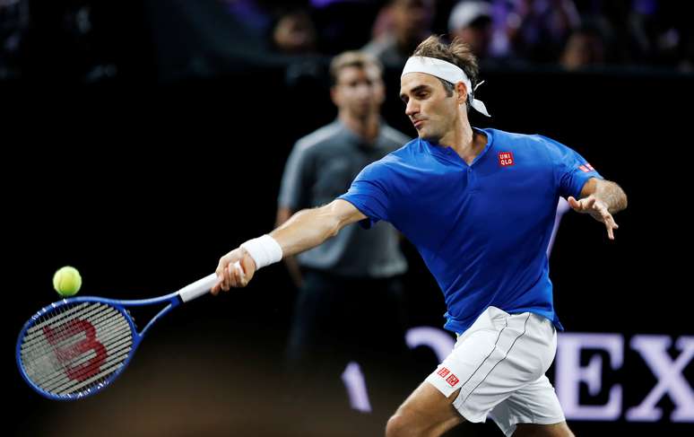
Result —
<path fill-rule="evenodd" d="M 342 195 L 360 170 L 410 141 L 380 118 L 385 89 L 374 57 L 345 52 L 334 57 L 330 74 L 337 119 L 295 144 L 282 177 L 278 226 Z M 400 280 L 407 263 L 398 232 L 389 223 L 369 232 L 355 223 L 285 262 L 299 287 L 287 351 L 294 385 L 339 413 L 349 407 L 340 376 L 357 363 L 370 384 L 369 408 L 392 413 L 406 384 L 385 387 L 394 378 L 382 376 L 407 359 Z"/>

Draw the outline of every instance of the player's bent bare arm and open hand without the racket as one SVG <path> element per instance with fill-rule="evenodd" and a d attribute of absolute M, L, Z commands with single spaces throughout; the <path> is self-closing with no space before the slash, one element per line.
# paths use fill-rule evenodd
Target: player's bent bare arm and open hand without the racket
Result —
<path fill-rule="evenodd" d="M 578 213 L 590 214 L 598 222 L 604 223 L 607 236 L 614 240 L 614 230 L 619 228 L 612 214 L 627 207 L 627 195 L 619 185 L 597 178 L 588 179 L 581 190 L 581 198 L 568 197 L 568 205 Z"/>

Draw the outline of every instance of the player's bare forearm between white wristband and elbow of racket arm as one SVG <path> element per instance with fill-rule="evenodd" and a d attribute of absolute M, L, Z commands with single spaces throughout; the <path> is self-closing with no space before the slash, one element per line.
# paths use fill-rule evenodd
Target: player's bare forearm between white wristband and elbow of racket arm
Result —
<path fill-rule="evenodd" d="M 327 205 L 299 211 L 271 232 L 270 236 L 282 248 L 283 256 L 289 257 L 315 248 L 336 235 L 340 228 L 339 218 L 331 214 L 330 206 Z"/>

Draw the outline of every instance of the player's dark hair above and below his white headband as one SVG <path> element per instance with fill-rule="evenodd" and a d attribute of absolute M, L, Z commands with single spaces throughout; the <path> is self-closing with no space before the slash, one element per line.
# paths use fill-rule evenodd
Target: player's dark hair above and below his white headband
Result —
<path fill-rule="evenodd" d="M 477 76 L 480 74 L 480 67 L 477 65 L 477 57 L 473 55 L 470 46 L 465 44 L 458 37 L 455 37 L 450 44 L 446 44 L 440 37 L 431 35 L 429 38 L 421 41 L 420 45 L 414 49 L 412 56 L 435 57 L 450 62 L 454 66 L 460 67 L 460 69 L 467 74 L 470 83 L 473 85 L 473 90 L 474 87 L 477 86 Z M 455 84 L 440 78 L 438 80 L 443 83 L 447 96 L 452 96 Z M 470 110 L 470 98 L 473 95 L 473 90 L 467 90 L 468 100 L 465 102 L 467 110 Z"/>

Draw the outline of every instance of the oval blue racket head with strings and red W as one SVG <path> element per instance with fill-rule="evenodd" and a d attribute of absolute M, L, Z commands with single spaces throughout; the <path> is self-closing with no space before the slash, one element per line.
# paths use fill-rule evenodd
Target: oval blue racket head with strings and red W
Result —
<path fill-rule="evenodd" d="M 77 297 L 51 303 L 23 326 L 16 361 L 22 378 L 44 398 L 74 400 L 98 393 L 125 370 L 142 336 L 117 302 Z"/>

